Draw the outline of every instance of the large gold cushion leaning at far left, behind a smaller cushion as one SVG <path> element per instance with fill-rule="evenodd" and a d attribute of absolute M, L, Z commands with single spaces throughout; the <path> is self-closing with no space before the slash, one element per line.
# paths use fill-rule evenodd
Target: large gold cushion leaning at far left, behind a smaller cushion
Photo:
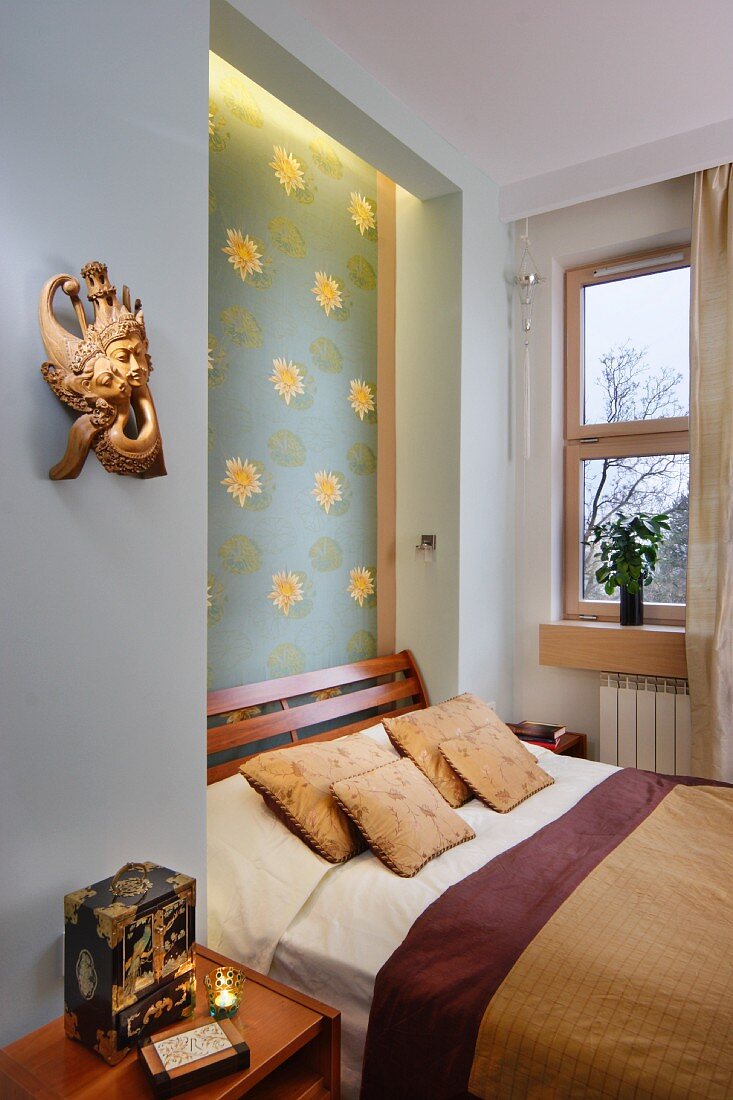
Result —
<path fill-rule="evenodd" d="M 355 735 L 262 752 L 239 770 L 291 832 L 329 862 L 343 864 L 364 844 L 339 810 L 331 783 L 393 759 L 371 738 Z"/>

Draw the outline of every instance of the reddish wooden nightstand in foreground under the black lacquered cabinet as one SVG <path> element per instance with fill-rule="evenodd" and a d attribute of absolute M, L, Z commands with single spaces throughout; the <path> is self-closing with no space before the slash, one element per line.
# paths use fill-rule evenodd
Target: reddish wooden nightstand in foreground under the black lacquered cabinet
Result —
<path fill-rule="evenodd" d="M 208 1020 L 204 975 L 232 963 L 196 948 L 197 1021 Z M 239 966 L 239 964 L 234 964 Z M 242 967 L 248 977 L 233 1023 L 251 1050 L 250 1068 L 183 1093 L 190 1100 L 339 1100 L 341 1014 L 311 997 Z M 182 1024 L 190 1026 L 190 1021 Z M 66 1038 L 62 1018 L 0 1050 L 2 1100 L 145 1100 L 138 1056 L 108 1066 Z"/>

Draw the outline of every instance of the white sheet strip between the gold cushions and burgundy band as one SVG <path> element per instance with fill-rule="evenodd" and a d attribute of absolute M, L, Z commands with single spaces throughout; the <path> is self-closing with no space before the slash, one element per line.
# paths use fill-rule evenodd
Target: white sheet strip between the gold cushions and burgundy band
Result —
<path fill-rule="evenodd" d="M 534 746 L 528 746 L 534 749 Z M 428 905 L 494 856 L 567 813 L 619 769 L 535 751 L 555 783 L 508 814 L 478 801 L 458 813 L 475 839 L 431 860 L 415 878 L 393 875 L 366 851 L 321 876 L 280 939 L 271 977 L 341 1011 L 342 1096 L 359 1094 L 374 980 Z"/>

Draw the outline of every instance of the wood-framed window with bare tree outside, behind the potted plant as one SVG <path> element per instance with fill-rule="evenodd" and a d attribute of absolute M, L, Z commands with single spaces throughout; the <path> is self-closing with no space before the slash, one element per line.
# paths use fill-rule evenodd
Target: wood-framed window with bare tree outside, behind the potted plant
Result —
<path fill-rule="evenodd" d="M 566 272 L 565 614 L 617 622 L 587 539 L 619 513 L 666 512 L 646 623 L 683 624 L 689 249 Z"/>

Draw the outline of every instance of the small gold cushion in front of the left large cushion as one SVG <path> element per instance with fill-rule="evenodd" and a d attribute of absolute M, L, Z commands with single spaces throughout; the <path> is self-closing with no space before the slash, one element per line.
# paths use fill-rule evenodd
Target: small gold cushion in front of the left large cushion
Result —
<path fill-rule="evenodd" d="M 412 760 L 341 779 L 332 791 L 372 851 L 405 879 L 475 836 Z"/>

